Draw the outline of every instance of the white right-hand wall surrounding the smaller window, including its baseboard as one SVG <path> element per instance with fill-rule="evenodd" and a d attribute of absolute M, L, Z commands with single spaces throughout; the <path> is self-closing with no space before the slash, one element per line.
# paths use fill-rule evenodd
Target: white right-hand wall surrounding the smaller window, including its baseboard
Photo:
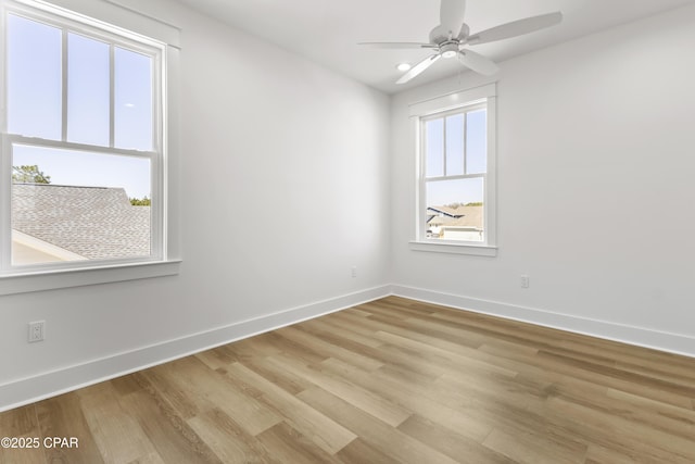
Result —
<path fill-rule="evenodd" d="M 467 73 L 397 95 L 396 292 L 695 355 L 693 43 L 688 7 L 502 64 L 496 258 L 407 244 L 407 104 L 483 79 Z"/>

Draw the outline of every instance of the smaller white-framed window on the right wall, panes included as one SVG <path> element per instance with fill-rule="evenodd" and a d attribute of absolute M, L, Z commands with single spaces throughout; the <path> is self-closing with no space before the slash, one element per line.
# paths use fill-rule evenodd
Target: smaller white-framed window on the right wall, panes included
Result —
<path fill-rule="evenodd" d="M 489 85 L 412 106 L 419 133 L 415 249 L 494 254 L 480 251 L 495 244 L 494 105 Z"/>

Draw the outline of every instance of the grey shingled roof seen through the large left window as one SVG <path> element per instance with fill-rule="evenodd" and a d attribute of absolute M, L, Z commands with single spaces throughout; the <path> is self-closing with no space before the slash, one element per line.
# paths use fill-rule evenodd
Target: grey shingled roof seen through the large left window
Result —
<path fill-rule="evenodd" d="M 150 254 L 150 208 L 123 188 L 14 184 L 12 228 L 89 260 Z"/>

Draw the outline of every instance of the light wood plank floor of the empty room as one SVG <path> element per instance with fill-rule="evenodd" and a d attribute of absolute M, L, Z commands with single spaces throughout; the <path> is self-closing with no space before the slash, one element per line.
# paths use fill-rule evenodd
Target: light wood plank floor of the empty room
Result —
<path fill-rule="evenodd" d="M 0 415 L 0 463 L 695 463 L 695 360 L 387 298 Z"/>

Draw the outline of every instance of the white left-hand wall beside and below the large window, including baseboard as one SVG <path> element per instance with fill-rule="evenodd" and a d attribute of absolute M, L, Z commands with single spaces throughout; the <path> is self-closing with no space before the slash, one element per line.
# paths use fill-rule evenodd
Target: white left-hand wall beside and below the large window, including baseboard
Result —
<path fill-rule="evenodd" d="M 142 8 L 182 29 L 181 273 L 0 297 L 0 410 L 388 292 L 388 97 Z"/>

